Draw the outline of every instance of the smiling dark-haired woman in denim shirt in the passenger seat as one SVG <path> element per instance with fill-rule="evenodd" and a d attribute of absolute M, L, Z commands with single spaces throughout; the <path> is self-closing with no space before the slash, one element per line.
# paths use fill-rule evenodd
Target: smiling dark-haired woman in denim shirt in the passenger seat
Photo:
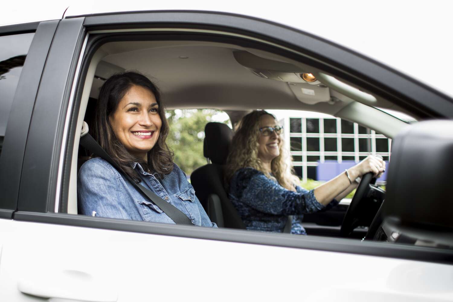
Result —
<path fill-rule="evenodd" d="M 122 171 L 100 157 L 84 163 L 78 175 L 79 213 L 174 223 L 124 179 L 124 173 L 178 208 L 194 225 L 216 226 L 186 175 L 173 163 L 173 152 L 165 143 L 168 133 L 159 89 L 147 77 L 123 72 L 106 80 L 99 94 L 93 134 Z"/>

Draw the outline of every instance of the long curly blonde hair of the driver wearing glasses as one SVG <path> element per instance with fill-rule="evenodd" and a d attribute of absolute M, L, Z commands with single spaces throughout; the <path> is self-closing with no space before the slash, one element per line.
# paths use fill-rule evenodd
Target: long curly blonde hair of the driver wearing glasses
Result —
<path fill-rule="evenodd" d="M 225 183 L 228 187 L 231 177 L 241 168 L 254 168 L 265 174 L 270 179 L 275 179 L 280 186 L 296 191 L 294 184 L 299 182 L 299 178 L 294 174 L 292 159 L 289 150 L 285 147 L 283 137 L 280 137 L 280 155 L 271 162 L 271 175 L 265 171 L 260 158 L 258 157 L 258 139 L 261 135 L 260 118 L 263 115 L 275 116 L 265 110 L 254 110 L 244 116 L 236 128 L 233 136 L 228 158 L 226 159 Z"/>

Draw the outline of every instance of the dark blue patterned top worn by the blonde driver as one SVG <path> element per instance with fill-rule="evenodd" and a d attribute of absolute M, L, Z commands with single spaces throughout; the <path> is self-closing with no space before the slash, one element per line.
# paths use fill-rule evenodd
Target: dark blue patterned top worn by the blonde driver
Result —
<path fill-rule="evenodd" d="M 280 186 L 275 180 L 253 168 L 241 168 L 231 177 L 229 198 L 247 230 L 282 233 L 289 215 L 294 215 L 291 234 L 307 235 L 303 214 L 325 211 L 338 204 L 320 204 L 314 190 L 296 186 L 297 192 Z"/>

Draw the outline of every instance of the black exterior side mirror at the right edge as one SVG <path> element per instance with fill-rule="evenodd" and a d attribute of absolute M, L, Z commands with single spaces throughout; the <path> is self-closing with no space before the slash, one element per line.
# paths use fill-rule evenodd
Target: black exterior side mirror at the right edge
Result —
<path fill-rule="evenodd" d="M 408 126 L 392 142 L 384 215 L 401 225 L 453 229 L 453 121 Z"/>

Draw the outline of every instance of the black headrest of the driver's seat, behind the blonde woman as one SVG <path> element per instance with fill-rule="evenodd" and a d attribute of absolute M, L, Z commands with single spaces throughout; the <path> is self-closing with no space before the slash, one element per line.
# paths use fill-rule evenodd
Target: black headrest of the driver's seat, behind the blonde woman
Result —
<path fill-rule="evenodd" d="M 228 125 L 211 122 L 204 127 L 204 134 L 204 157 L 211 159 L 212 163 L 224 164 L 233 139 L 233 130 Z"/>

